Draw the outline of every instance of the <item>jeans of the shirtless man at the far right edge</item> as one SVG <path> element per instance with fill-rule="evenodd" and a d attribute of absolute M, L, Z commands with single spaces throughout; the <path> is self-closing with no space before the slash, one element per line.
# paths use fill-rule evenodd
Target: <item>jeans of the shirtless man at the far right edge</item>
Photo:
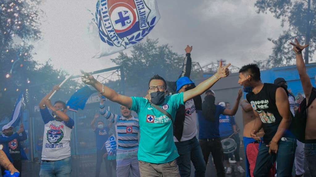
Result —
<path fill-rule="evenodd" d="M 305 158 L 312 177 L 316 177 L 316 144 L 307 143 L 304 147 Z"/>

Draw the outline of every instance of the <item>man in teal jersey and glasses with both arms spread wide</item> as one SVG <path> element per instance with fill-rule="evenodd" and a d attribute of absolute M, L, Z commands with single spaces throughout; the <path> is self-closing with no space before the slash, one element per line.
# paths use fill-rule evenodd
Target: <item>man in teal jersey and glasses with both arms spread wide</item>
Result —
<path fill-rule="evenodd" d="M 166 81 L 155 75 L 149 80 L 149 99 L 141 97 L 128 97 L 118 94 L 113 89 L 98 82 L 94 77 L 82 72 L 82 81 L 92 85 L 107 99 L 131 108 L 139 117 L 140 140 L 138 149 L 139 170 L 141 176 L 167 176 L 179 177 L 176 158 L 179 157 L 173 141 L 173 121 L 176 111 L 185 101 L 203 94 L 212 87 L 220 78 L 229 75 L 227 66 L 222 66 L 222 61 L 217 73 L 206 79 L 191 90 L 167 96 Z M 173 120 L 157 110 L 151 104 L 160 106 L 167 111 Z"/>

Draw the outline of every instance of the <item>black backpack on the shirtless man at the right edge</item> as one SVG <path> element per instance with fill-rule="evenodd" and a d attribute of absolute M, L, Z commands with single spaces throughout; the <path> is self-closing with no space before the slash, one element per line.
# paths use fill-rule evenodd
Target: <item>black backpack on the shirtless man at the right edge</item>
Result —
<path fill-rule="evenodd" d="M 302 143 L 316 143 L 316 140 L 305 140 L 305 129 L 307 120 L 307 108 L 312 104 L 313 100 L 316 98 L 316 88 L 312 88 L 312 93 L 309 97 L 308 104 L 306 105 L 306 98 L 301 102 L 298 110 L 295 113 L 294 123 L 295 123 L 295 135 L 297 140 Z"/>

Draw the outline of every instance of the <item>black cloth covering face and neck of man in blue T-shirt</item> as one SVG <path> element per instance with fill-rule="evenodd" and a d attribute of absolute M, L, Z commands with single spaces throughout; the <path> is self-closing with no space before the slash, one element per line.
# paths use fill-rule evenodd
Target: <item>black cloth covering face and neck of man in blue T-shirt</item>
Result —
<path fill-rule="evenodd" d="M 204 102 L 202 104 L 203 117 L 210 122 L 215 122 L 215 113 L 216 113 L 215 97 L 213 95 L 205 96 Z"/>

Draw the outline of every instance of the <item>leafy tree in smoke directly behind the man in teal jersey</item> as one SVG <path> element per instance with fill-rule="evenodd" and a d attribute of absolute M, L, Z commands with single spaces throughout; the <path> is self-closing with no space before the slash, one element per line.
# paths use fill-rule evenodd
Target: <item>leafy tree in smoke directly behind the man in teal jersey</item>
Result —
<path fill-rule="evenodd" d="M 133 46 L 131 56 L 120 52 L 111 60 L 124 67 L 125 87 L 137 88 L 145 94 L 148 81 L 155 74 L 167 81 L 176 81 L 182 71 L 183 59 L 184 56 L 173 52 L 168 44 L 158 45 L 158 39 L 146 38 Z"/>

